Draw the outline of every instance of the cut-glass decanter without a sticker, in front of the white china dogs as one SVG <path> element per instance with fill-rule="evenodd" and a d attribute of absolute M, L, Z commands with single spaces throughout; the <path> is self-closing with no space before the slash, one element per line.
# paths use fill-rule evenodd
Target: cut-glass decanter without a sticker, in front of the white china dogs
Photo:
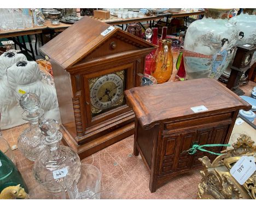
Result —
<path fill-rule="evenodd" d="M 34 93 L 22 95 L 19 102 L 20 106 L 24 109 L 22 117 L 29 122 L 29 127 L 20 134 L 18 148 L 28 160 L 34 161 L 45 148 L 42 140 L 43 135 L 38 123 L 44 111 L 39 108 L 39 97 Z"/>

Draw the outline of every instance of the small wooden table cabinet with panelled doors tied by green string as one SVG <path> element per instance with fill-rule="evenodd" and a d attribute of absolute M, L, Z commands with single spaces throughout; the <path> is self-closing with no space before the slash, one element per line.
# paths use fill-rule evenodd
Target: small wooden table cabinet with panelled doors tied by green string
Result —
<path fill-rule="evenodd" d="M 125 96 L 136 115 L 133 153 L 146 164 L 151 192 L 175 175 L 201 168 L 199 157 L 213 160 L 216 156 L 207 152 L 189 155 L 186 150 L 193 144 L 227 144 L 239 109 L 251 109 L 209 78 L 132 88 Z M 195 113 L 191 107 L 197 106 L 207 109 Z"/>

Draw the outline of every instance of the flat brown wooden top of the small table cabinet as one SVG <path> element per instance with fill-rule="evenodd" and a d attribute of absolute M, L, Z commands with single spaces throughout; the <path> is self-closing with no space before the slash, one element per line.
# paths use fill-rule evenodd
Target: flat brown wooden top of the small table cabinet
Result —
<path fill-rule="evenodd" d="M 237 109 L 251 109 L 249 103 L 218 81 L 211 78 L 136 87 L 125 91 L 142 126 L 173 118 L 191 118 L 195 114 L 212 114 Z M 205 106 L 206 111 L 195 113 L 191 108 Z"/>

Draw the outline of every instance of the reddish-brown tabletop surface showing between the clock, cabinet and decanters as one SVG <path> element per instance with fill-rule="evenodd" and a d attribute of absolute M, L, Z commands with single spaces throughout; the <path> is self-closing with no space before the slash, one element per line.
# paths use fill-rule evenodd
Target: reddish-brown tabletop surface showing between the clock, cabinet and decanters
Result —
<path fill-rule="evenodd" d="M 250 96 L 250 90 L 255 83 L 242 87 Z M 254 124 L 256 122 L 254 121 Z M 11 146 L 15 145 L 20 133 L 28 125 L 22 125 L 9 130 L 3 130 L 3 137 Z M 201 180 L 200 170 L 173 178 L 155 193 L 149 191 L 149 173 L 141 156 L 135 157 L 133 151 L 133 136 L 121 140 L 108 148 L 85 158 L 82 163 L 92 164 L 100 169 L 102 174 L 102 190 L 117 193 L 121 199 L 195 199 L 197 186 Z M 19 168 L 28 188 L 36 186 L 32 175 L 33 162 L 27 160 L 21 152 L 14 150 L 16 165 Z"/>

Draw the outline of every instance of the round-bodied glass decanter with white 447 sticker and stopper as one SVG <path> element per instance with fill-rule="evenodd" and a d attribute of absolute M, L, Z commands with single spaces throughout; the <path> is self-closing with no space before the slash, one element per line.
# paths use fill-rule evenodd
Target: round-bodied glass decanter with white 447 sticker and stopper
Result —
<path fill-rule="evenodd" d="M 44 143 L 47 146 L 34 161 L 33 175 L 37 182 L 46 184 L 45 188 L 48 191 L 59 192 L 60 186 L 54 186 L 54 183 L 59 183 L 65 188 L 71 187 L 74 180 L 78 182 L 80 158 L 68 146 L 60 145 L 62 133 L 59 131 L 57 121 L 44 119 L 40 121 L 40 129 L 45 136 Z M 64 178 L 66 178 L 66 186 Z"/>

